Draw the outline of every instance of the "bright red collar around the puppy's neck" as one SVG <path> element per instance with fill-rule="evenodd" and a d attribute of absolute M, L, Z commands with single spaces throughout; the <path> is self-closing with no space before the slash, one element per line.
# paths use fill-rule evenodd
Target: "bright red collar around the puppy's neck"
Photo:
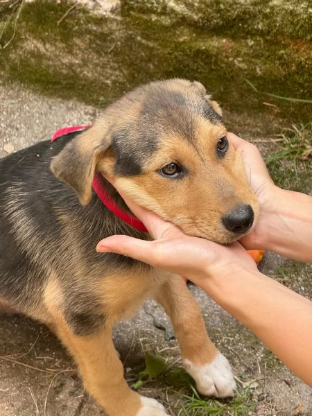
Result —
<path fill-rule="evenodd" d="M 54 141 L 58 139 L 58 137 L 68 135 L 71 132 L 76 132 L 78 130 L 84 130 L 85 128 L 89 128 L 89 125 L 76 125 L 73 127 L 65 127 L 61 128 L 60 130 L 57 130 L 51 141 Z M 112 197 L 107 192 L 107 189 L 103 186 L 103 182 L 101 181 L 101 176 L 99 173 L 96 173 L 94 175 L 94 180 L 92 182 L 92 188 L 94 189 L 96 195 L 100 200 L 103 202 L 103 204 L 112 211 L 113 214 L 118 216 L 121 220 L 123 220 L 124 223 L 127 223 L 131 225 L 131 227 L 138 229 L 139 231 L 148 232 L 146 227 L 143 223 L 141 223 L 140 220 L 135 218 L 135 216 L 132 216 L 131 214 L 128 214 L 128 212 L 123 211 L 121 208 L 117 207 L 114 200 L 112 200 Z"/>

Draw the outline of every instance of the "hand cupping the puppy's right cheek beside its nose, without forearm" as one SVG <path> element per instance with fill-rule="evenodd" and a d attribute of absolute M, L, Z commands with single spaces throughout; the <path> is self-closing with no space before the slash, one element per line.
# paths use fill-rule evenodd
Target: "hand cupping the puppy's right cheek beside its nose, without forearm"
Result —
<path fill-rule="evenodd" d="M 252 232 L 243 236 L 240 242 L 247 250 L 266 248 L 269 240 L 269 219 L 277 211 L 277 193 L 281 191 L 275 186 L 266 164 L 257 146 L 241 139 L 233 133 L 227 135 L 237 152 L 241 153 L 245 165 L 245 172 L 260 203 L 259 220 Z"/>

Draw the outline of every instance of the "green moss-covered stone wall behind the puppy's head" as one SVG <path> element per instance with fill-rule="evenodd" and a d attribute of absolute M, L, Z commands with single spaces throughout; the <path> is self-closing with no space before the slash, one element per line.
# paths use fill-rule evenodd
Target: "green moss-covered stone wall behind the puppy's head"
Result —
<path fill-rule="evenodd" d="M 276 24 L 275 14 L 269 31 L 268 1 L 248 1 L 245 6 L 239 2 L 235 13 L 229 3 L 207 0 L 192 6 L 184 0 L 173 10 L 166 1 L 123 1 L 121 19 L 94 17 L 75 8 L 60 24 L 70 6 L 67 1 L 28 3 L 14 40 L 1 51 L 0 73 L 4 80 L 44 94 L 96 106 L 150 80 L 197 79 L 229 112 L 270 114 L 263 106 L 270 101 L 286 120 L 309 121 L 311 105 L 262 96 L 244 80 L 259 91 L 311 98 L 307 37 L 288 33 L 285 25 Z M 287 19 L 295 19 L 294 13 L 289 10 Z M 309 13 L 306 16 L 302 28 L 308 27 Z M 7 12 L 2 21 L 6 19 Z M 297 31 L 298 25 L 291 27 Z M 11 35 L 12 21 L 1 44 Z M 265 131 L 269 128 L 264 126 Z"/>

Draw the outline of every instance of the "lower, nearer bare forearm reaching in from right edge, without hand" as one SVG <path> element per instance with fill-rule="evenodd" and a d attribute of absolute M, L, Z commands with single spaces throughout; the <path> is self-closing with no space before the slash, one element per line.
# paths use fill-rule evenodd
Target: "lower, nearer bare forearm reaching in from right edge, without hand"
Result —
<path fill-rule="evenodd" d="M 260 272 L 207 277 L 202 288 L 312 386 L 312 302 Z"/>

